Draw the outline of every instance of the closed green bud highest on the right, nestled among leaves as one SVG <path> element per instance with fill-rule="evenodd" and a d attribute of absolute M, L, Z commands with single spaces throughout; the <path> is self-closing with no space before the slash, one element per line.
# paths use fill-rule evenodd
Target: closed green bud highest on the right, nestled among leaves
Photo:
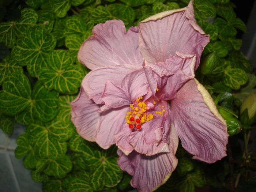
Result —
<path fill-rule="evenodd" d="M 204 75 L 210 74 L 213 69 L 217 66 L 218 58 L 216 52 L 208 53 L 203 62 L 200 64 L 200 72 Z"/>

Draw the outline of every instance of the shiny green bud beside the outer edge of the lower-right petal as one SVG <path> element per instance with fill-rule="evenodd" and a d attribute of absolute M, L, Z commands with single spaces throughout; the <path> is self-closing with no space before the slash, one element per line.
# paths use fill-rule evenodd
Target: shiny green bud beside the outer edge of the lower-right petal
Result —
<path fill-rule="evenodd" d="M 219 113 L 227 123 L 227 133 L 229 133 L 230 136 L 241 131 L 241 123 L 236 117 L 224 109 L 219 109 Z"/>

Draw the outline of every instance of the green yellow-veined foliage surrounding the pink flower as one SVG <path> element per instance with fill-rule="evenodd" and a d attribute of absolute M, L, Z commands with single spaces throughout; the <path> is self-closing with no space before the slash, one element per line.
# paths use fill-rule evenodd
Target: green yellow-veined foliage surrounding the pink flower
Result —
<path fill-rule="evenodd" d="M 132 189 L 131 176 L 116 163 L 116 147 L 103 150 L 87 142 L 71 122 L 69 102 L 89 72 L 77 60 L 77 53 L 97 23 L 121 19 L 128 29 L 148 16 L 185 7 L 188 2 L 0 0 L 0 126 L 11 134 L 14 122 L 27 125 L 17 139 L 15 156 L 24 157 L 24 166 L 31 169 L 35 182 L 43 182 L 44 192 Z M 229 0 L 194 0 L 193 4 L 197 23 L 210 34 L 196 78 L 222 110 L 229 133 L 234 135 L 230 150 L 237 150 L 241 128 L 245 133 L 251 129 L 240 123 L 240 105 L 255 92 L 256 85 L 252 64 L 239 51 L 242 41 L 236 38 L 237 30 L 246 32 L 246 26 L 236 17 Z M 246 155 L 240 151 L 232 158 L 248 163 Z M 234 191 L 231 174 L 240 174 L 243 180 L 250 178 L 249 170 L 233 162 L 231 172 L 227 158 L 205 165 L 192 160 L 181 145 L 177 157 L 177 169 L 158 191 L 193 192 L 205 185 Z M 254 161 L 250 157 L 249 162 Z"/>

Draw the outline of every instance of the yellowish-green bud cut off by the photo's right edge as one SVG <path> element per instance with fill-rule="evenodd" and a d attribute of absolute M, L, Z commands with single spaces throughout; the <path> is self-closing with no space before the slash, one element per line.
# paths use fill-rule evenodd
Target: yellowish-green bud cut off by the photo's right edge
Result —
<path fill-rule="evenodd" d="M 244 99 L 240 109 L 241 121 L 245 127 L 256 120 L 256 93 L 251 93 Z"/>

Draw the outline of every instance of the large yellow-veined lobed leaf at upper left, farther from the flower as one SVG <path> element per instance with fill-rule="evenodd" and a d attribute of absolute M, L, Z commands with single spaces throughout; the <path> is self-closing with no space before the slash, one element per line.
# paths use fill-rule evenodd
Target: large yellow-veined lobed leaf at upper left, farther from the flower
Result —
<path fill-rule="evenodd" d="M 48 53 L 54 49 L 56 39 L 41 27 L 35 27 L 20 37 L 13 48 L 15 60 L 22 66 L 27 65 L 29 74 L 37 77 L 41 67 L 46 65 Z"/>

